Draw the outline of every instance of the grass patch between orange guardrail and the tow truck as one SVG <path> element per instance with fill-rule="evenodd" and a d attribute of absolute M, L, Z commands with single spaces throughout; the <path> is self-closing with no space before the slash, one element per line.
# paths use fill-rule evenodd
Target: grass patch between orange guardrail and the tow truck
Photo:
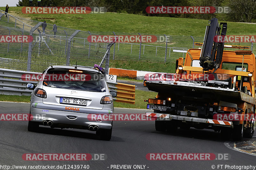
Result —
<path fill-rule="evenodd" d="M 135 90 L 135 104 L 114 102 L 114 107 L 147 109 L 147 103 L 144 100 L 154 98 L 156 95 L 156 92 Z"/>

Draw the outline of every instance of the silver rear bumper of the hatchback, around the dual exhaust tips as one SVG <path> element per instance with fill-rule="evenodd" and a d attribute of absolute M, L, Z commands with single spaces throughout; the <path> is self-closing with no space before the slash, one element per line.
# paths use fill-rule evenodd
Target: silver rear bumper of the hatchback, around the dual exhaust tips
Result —
<path fill-rule="evenodd" d="M 30 121 L 38 122 L 43 125 L 43 121 L 52 121 L 51 127 L 59 128 L 75 128 L 75 129 L 88 129 L 90 125 L 97 125 L 99 129 L 111 129 L 112 120 L 100 120 L 95 115 L 112 115 L 112 110 L 96 110 L 96 109 L 84 109 L 79 110 L 59 110 L 55 105 L 49 105 L 44 103 L 31 104 L 30 113 L 32 118 Z M 33 107 L 34 106 L 34 107 Z M 36 107 L 35 107 L 36 106 Z M 44 107 L 45 106 L 45 107 Z M 61 106 L 63 107 L 63 106 Z M 54 110 L 56 108 L 56 110 Z M 58 109 L 58 110 L 57 110 Z M 65 107 L 64 107 L 65 109 Z M 87 113 L 86 113 L 86 110 Z M 94 117 L 93 117 L 94 116 Z M 105 116 L 106 117 L 106 116 Z"/>

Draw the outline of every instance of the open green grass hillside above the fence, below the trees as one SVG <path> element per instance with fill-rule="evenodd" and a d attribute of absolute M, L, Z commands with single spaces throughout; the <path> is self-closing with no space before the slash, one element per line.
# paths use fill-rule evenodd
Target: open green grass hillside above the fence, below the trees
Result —
<path fill-rule="evenodd" d="M 5 10 L 5 7 L 0 7 Z M 92 32 L 140 32 L 204 37 L 208 20 L 192 18 L 148 17 L 107 12 L 104 14 L 23 14 L 22 7 L 10 7 L 11 14 L 46 21 L 68 28 Z M 211 19 L 211 18 L 209 18 Z M 219 21 L 224 22 L 224 21 Z M 228 22 L 227 35 L 254 35 L 256 25 Z M 245 34 L 244 34 L 245 33 Z"/>

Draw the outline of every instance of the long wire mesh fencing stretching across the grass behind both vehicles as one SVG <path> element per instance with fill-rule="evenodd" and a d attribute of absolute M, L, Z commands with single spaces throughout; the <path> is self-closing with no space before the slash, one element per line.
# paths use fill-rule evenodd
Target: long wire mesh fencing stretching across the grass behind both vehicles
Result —
<path fill-rule="evenodd" d="M 92 67 L 99 64 L 108 70 L 110 60 L 134 60 L 152 62 L 175 62 L 185 57 L 194 42 L 203 42 L 204 37 L 152 35 L 122 32 L 85 32 L 57 25 L 18 18 L 0 11 L 0 34 L 32 36 L 32 42 L 0 43 L 0 67 L 41 72 L 50 65 Z M 43 28 L 44 27 L 44 28 Z M 141 35 L 156 36 L 155 42 L 93 42 L 91 35 Z M 231 43 L 225 43 L 231 45 Z M 113 45 L 112 48 L 110 48 Z M 252 43 L 232 43 L 232 45 L 252 46 Z M 226 49 L 236 50 L 236 49 Z M 255 50 L 254 50 L 255 51 Z M 254 52 L 253 51 L 253 52 Z M 256 51 L 255 51 L 256 52 Z M 110 55 L 111 53 L 111 55 Z M 110 57 L 109 57 L 110 56 Z"/>

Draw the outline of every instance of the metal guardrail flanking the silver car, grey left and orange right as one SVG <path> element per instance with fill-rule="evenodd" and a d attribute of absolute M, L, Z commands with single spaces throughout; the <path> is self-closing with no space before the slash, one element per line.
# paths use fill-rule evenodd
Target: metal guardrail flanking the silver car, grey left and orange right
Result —
<path fill-rule="evenodd" d="M 26 88 L 26 84 L 28 82 L 35 83 L 37 81 L 24 81 L 21 79 L 22 74 L 41 73 L 0 68 L 0 94 L 30 96 L 32 91 Z M 107 83 L 109 89 L 113 89 L 117 92 L 117 98 L 114 98 L 115 101 L 135 103 L 135 85 L 110 81 L 107 81 Z"/>

